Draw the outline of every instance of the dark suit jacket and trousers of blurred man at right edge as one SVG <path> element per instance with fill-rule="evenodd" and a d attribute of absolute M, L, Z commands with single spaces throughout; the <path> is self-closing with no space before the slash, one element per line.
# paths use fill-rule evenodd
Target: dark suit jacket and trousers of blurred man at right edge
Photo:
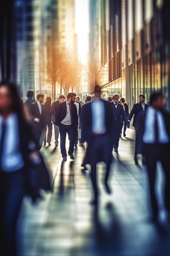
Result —
<path fill-rule="evenodd" d="M 147 111 L 146 111 L 147 112 Z M 165 207 L 170 213 L 170 114 L 163 111 L 163 120 L 166 127 L 166 131 L 169 137 L 169 143 L 167 144 L 146 144 L 143 141 L 146 124 L 146 112 L 141 112 L 137 119 L 137 148 L 136 153 L 142 154 L 144 157 L 144 164 L 148 171 L 150 198 L 154 217 L 157 217 L 158 204 L 155 195 L 155 176 L 156 176 L 156 164 L 160 161 L 165 173 Z"/>

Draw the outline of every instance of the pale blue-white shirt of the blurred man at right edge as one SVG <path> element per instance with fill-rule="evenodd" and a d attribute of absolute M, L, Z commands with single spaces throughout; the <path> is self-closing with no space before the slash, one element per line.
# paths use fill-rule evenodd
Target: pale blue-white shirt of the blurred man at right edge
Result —
<path fill-rule="evenodd" d="M 157 112 L 158 137 L 159 143 L 168 143 L 169 137 L 166 131 L 165 121 L 160 111 L 156 111 L 151 106 L 146 112 L 145 131 L 143 136 L 144 143 L 152 144 L 155 142 L 155 114 Z"/>

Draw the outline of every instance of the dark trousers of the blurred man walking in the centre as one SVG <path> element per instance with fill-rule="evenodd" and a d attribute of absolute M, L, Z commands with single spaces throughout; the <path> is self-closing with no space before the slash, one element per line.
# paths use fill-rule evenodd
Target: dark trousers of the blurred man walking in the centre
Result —
<path fill-rule="evenodd" d="M 87 162 L 91 164 L 91 181 L 95 198 L 98 195 L 96 165 L 98 162 L 106 163 L 105 182 L 107 182 L 112 161 L 112 139 L 107 135 L 94 135 L 87 147 Z M 85 156 L 86 157 L 86 156 Z"/>

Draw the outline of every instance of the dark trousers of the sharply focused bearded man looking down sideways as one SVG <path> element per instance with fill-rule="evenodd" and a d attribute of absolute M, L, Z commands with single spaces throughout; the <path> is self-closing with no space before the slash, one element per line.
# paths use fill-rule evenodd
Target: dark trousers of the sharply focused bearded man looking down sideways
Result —
<path fill-rule="evenodd" d="M 60 148 L 62 157 L 66 157 L 66 134 L 68 134 L 68 139 L 70 141 L 68 155 L 72 155 L 74 151 L 74 143 L 75 143 L 75 136 L 76 136 L 77 126 L 71 125 L 64 125 L 60 123 Z"/>

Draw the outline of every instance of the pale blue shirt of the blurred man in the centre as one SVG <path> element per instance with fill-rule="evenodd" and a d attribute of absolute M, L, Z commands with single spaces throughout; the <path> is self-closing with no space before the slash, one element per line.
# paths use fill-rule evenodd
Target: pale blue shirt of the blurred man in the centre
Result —
<path fill-rule="evenodd" d="M 92 101 L 91 109 L 93 134 L 104 134 L 106 132 L 104 102 L 97 99 Z"/>

